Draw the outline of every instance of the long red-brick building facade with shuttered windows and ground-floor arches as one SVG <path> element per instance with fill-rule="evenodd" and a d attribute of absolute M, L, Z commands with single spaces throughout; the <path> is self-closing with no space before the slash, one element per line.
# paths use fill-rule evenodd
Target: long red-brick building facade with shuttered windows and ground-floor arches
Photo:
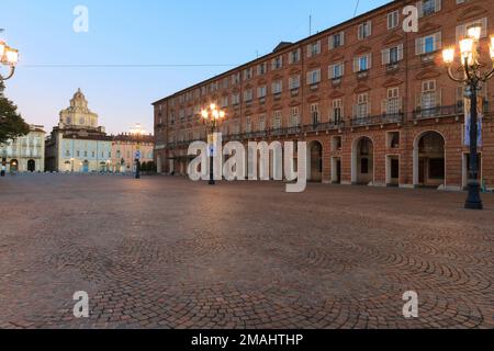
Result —
<path fill-rule="evenodd" d="M 418 32 L 402 27 L 416 5 Z M 184 174 L 200 111 L 226 112 L 225 141 L 307 141 L 312 181 L 461 189 L 467 184 L 463 87 L 441 50 L 482 25 L 489 69 L 494 1 L 392 1 L 154 103 L 158 170 Z M 494 80 L 483 87 L 481 177 L 494 188 Z"/>

